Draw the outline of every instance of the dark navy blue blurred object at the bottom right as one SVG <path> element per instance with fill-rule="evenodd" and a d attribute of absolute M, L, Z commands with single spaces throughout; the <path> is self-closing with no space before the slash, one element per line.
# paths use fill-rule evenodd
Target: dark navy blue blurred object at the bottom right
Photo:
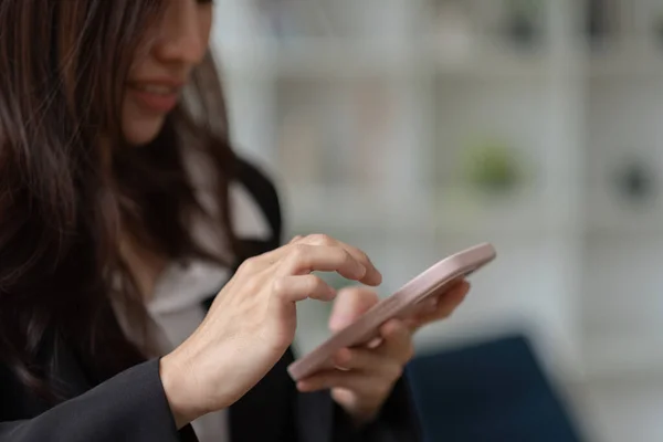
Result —
<path fill-rule="evenodd" d="M 583 440 L 523 336 L 418 357 L 408 377 L 425 441 Z"/>

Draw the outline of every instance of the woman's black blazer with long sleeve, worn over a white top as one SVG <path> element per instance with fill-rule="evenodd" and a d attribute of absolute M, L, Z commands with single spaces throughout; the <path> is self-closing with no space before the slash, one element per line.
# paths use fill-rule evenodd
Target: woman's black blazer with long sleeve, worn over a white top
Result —
<path fill-rule="evenodd" d="M 239 180 L 265 213 L 272 238 L 246 239 L 248 255 L 281 243 L 281 209 L 272 183 L 256 168 L 241 162 Z M 238 263 L 248 256 L 241 256 Z M 206 302 L 209 307 L 213 296 Z M 190 425 L 177 431 L 158 360 L 137 365 L 99 385 L 92 385 L 66 344 L 45 350 L 51 376 L 74 399 L 51 407 L 28 391 L 0 365 L 0 442 L 196 441 Z M 328 392 L 301 393 L 286 372 L 291 349 L 274 368 L 229 410 L 232 442 L 241 441 L 376 441 L 420 440 L 419 421 L 408 386 L 401 379 L 378 419 L 356 429 Z"/>

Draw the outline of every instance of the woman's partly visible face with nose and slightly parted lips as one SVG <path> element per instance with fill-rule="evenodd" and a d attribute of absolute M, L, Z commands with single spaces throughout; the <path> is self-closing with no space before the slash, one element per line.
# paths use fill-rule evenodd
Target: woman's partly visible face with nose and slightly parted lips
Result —
<path fill-rule="evenodd" d="M 212 0 L 166 2 L 156 33 L 138 51 L 125 86 L 123 133 L 136 146 L 156 138 L 209 45 Z"/>

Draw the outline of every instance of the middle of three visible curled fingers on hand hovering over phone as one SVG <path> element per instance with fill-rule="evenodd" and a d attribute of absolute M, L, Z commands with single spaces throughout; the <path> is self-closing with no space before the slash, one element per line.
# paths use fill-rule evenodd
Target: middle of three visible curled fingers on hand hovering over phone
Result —
<path fill-rule="evenodd" d="M 338 272 L 348 280 L 355 281 L 366 275 L 366 267 L 337 245 L 297 243 L 290 248 L 291 253 L 281 265 L 285 274 L 301 275 L 314 271 Z"/>

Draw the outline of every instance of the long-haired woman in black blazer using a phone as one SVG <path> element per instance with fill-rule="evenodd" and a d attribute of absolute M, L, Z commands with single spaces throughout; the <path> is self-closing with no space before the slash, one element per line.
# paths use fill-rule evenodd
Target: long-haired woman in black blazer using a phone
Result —
<path fill-rule="evenodd" d="M 377 301 L 312 272 L 381 276 L 324 235 L 280 246 L 273 187 L 230 149 L 211 21 L 200 0 L 0 0 L 2 442 L 418 438 L 411 333 L 467 285 L 290 380 L 296 302 L 336 297 L 343 327 Z"/>

